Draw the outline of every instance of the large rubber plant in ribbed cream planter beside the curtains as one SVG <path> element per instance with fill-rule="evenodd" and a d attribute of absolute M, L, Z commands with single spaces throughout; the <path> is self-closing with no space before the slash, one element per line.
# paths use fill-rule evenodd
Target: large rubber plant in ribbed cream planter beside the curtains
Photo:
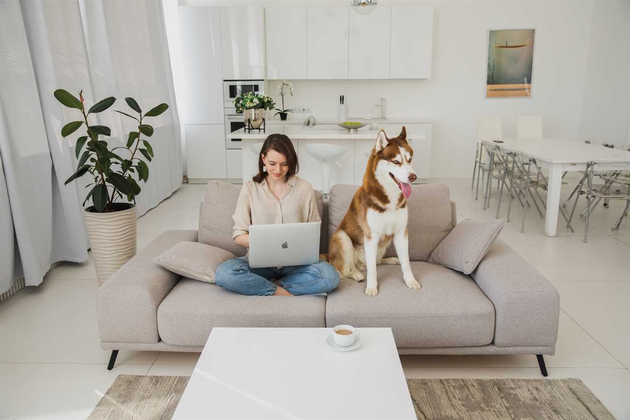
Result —
<path fill-rule="evenodd" d="M 86 112 L 83 91 L 79 92 L 78 99 L 63 89 L 55 90 L 54 95 L 66 107 L 81 111 L 83 117 L 64 125 L 61 135 L 67 137 L 83 125 L 87 133 L 87 136 L 80 136 L 77 139 L 75 153 L 79 163 L 76 172 L 65 184 L 88 174 L 93 178 L 93 182 L 86 186 L 91 188 L 83 201 L 85 205 L 91 199 L 92 206 L 84 208 L 83 214 L 94 257 L 96 277 L 100 285 L 135 255 L 137 226 L 135 197 L 140 194 L 138 182 L 146 183 L 149 179 L 149 166 L 146 161 L 150 162 L 154 157 L 151 144 L 142 138 L 143 135 L 148 138 L 153 134 L 153 127 L 146 124 L 144 119 L 162 114 L 168 109 L 168 105 L 161 103 L 142 114 L 134 98 L 125 98 L 127 105 L 137 112 L 138 116 L 134 117 L 118 110 L 116 112 L 136 120 L 138 128 L 137 131 L 129 133 L 126 146 L 110 148 L 106 139 L 99 138 L 111 136 L 110 127 L 90 125 L 88 116 L 105 111 L 116 102 L 116 98 L 110 96 L 96 102 Z M 143 156 L 144 160 L 140 156 Z"/>

